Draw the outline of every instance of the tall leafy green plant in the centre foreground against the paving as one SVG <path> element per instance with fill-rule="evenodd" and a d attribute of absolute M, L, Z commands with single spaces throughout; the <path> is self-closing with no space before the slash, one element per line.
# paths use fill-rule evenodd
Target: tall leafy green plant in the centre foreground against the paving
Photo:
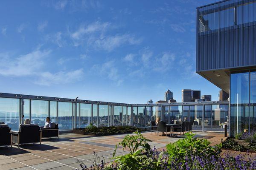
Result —
<path fill-rule="evenodd" d="M 130 153 L 134 153 L 139 147 L 145 148 L 146 151 L 151 149 L 150 145 L 147 143 L 151 142 L 151 140 L 145 138 L 138 130 L 134 132 L 134 134 L 136 135 L 126 135 L 124 139 L 116 145 L 113 156 L 115 156 L 118 146 L 122 146 L 123 149 L 128 147 Z"/>

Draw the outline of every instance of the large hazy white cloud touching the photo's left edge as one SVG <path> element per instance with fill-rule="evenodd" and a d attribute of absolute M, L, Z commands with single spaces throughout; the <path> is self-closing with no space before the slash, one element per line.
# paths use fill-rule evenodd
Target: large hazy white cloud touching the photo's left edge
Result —
<path fill-rule="evenodd" d="M 44 65 L 44 59 L 48 57 L 50 52 L 50 50 L 41 51 L 37 49 L 16 58 L 0 54 L 0 75 L 28 76 L 35 74 L 40 71 Z"/>

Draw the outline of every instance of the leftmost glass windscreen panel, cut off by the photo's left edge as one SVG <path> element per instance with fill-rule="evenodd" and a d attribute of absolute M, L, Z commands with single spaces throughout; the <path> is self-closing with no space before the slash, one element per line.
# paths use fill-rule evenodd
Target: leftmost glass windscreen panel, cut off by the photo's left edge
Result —
<path fill-rule="evenodd" d="M 0 122 L 17 131 L 20 125 L 20 100 L 0 98 Z"/>

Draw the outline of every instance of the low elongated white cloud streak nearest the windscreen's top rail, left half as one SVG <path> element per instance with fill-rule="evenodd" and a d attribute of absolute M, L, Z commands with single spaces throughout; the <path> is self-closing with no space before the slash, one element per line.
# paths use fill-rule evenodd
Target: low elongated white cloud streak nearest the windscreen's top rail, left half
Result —
<path fill-rule="evenodd" d="M 83 69 L 80 68 L 74 71 L 59 71 L 55 74 L 50 72 L 43 72 L 35 82 L 38 85 L 54 85 L 54 84 L 66 84 L 74 81 L 78 81 L 83 76 Z"/>

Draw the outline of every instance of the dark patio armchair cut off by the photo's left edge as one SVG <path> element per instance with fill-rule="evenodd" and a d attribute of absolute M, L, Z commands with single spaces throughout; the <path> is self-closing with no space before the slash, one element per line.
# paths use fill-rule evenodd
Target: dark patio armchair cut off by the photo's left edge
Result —
<path fill-rule="evenodd" d="M 11 145 L 12 147 L 12 133 L 11 128 L 5 125 L 4 122 L 0 122 L 0 146 Z"/>

